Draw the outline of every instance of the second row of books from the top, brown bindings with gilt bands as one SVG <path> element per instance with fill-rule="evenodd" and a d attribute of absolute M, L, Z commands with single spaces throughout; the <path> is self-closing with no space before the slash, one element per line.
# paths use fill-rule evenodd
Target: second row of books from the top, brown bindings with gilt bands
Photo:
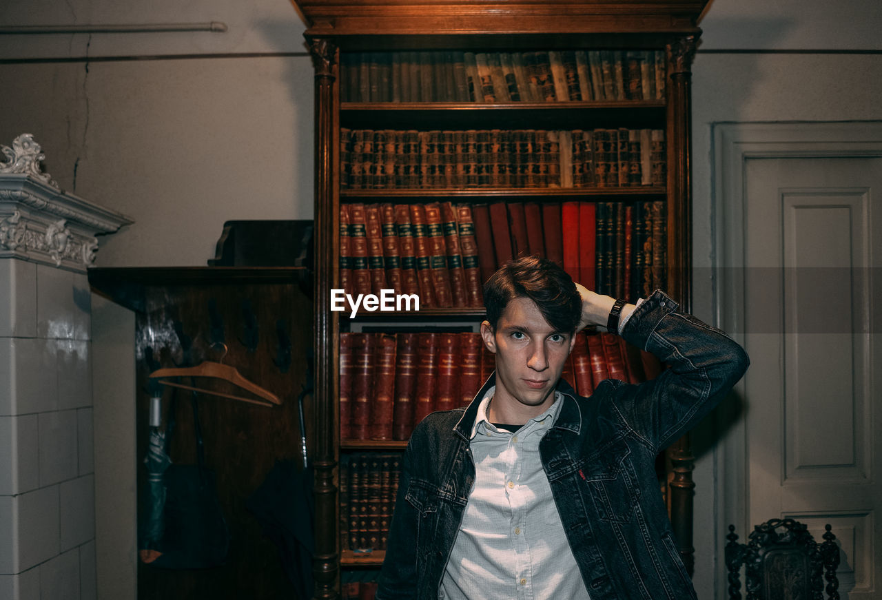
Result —
<path fill-rule="evenodd" d="M 667 182 L 661 129 L 340 128 L 340 189 L 583 188 Z"/>

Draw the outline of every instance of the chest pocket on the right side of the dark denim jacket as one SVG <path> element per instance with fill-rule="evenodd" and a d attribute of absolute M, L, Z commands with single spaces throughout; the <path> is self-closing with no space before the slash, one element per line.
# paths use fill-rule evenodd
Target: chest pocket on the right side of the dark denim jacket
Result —
<path fill-rule="evenodd" d="M 639 497 L 636 476 L 628 456 L 631 448 L 617 438 L 588 457 L 579 469 L 591 501 L 603 521 L 627 522 Z"/>

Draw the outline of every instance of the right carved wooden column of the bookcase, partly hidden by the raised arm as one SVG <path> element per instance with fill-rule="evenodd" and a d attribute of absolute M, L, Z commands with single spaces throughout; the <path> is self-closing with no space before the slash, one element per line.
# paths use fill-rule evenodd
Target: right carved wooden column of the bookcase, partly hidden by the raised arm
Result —
<path fill-rule="evenodd" d="M 684 311 L 691 304 L 691 209 L 692 182 L 689 163 L 691 155 L 691 64 L 695 56 L 696 35 L 686 35 L 668 44 L 668 257 L 669 274 L 673 275 L 669 293 Z M 668 449 L 673 477 L 669 483 L 671 525 L 680 556 L 689 574 L 695 567 L 692 547 L 692 481 L 691 436 L 685 434 Z"/>

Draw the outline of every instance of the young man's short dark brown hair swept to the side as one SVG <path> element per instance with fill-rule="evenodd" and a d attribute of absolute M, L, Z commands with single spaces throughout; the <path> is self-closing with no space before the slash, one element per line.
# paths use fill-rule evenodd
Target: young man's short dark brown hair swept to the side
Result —
<path fill-rule="evenodd" d="M 579 325 L 582 300 L 572 277 L 549 259 L 510 260 L 484 284 L 487 320 L 495 330 L 513 298 L 529 298 L 556 331 L 572 334 Z"/>

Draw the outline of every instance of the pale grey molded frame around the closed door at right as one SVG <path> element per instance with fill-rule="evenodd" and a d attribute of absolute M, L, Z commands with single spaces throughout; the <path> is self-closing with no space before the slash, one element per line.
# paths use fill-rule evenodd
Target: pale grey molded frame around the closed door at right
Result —
<path fill-rule="evenodd" d="M 882 157 L 882 122 L 714 123 L 711 125 L 711 265 L 715 325 L 744 342 L 744 210 L 745 169 L 753 159 Z M 745 378 L 735 388 L 744 398 Z M 744 538 L 749 482 L 747 444 L 742 413 L 718 412 L 714 447 L 714 590 L 727 598 L 723 560 L 729 523 Z M 876 469 L 879 468 L 875 465 Z M 879 549 L 882 551 L 882 549 Z M 878 584 L 879 582 L 877 582 Z"/>

